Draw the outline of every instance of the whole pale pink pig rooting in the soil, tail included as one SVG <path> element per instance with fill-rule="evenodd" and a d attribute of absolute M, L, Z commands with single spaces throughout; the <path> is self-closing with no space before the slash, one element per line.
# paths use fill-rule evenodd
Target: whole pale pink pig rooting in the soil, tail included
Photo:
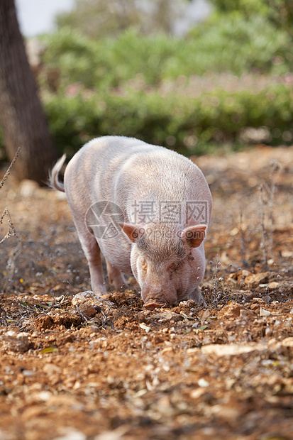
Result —
<path fill-rule="evenodd" d="M 203 300 L 204 238 L 211 221 L 209 185 L 191 160 L 136 138 L 104 136 L 65 155 L 50 174 L 51 187 L 65 192 L 92 290 L 106 294 L 101 253 L 109 282 L 126 286 L 134 275 L 144 307 L 170 307 Z"/>

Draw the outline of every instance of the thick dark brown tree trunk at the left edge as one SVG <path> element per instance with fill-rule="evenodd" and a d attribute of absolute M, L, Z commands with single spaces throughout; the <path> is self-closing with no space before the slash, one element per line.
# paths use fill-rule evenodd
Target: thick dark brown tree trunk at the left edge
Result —
<path fill-rule="evenodd" d="M 21 147 L 13 167 L 16 177 L 44 184 L 57 153 L 26 57 L 14 0 L 0 0 L 0 123 L 10 160 Z"/>

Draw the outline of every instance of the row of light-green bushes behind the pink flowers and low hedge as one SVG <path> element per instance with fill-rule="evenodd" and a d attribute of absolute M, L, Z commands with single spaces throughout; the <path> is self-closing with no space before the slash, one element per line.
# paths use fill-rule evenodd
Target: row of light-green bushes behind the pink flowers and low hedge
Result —
<path fill-rule="evenodd" d="M 292 40 L 286 32 L 261 16 L 248 21 L 237 13 L 214 15 L 185 39 L 129 29 L 118 38 L 95 41 L 62 28 L 44 41 L 45 65 L 60 70 L 64 87 L 72 82 L 95 89 L 117 87 L 138 74 L 156 86 L 206 71 L 241 75 L 254 67 L 281 75 L 293 68 Z"/>

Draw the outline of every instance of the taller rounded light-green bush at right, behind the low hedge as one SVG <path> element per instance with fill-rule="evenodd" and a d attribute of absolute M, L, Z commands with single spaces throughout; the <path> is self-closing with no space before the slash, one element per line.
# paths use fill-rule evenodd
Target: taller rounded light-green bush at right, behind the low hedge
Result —
<path fill-rule="evenodd" d="M 282 74 L 292 65 L 289 35 L 277 31 L 261 16 L 247 21 L 237 13 L 215 14 L 194 28 L 189 38 L 191 43 L 178 55 L 177 69 L 183 65 L 185 75 L 202 75 L 206 70 L 241 75 L 253 67 L 260 72 Z M 280 65 L 274 64 L 275 57 L 282 57 Z"/>

